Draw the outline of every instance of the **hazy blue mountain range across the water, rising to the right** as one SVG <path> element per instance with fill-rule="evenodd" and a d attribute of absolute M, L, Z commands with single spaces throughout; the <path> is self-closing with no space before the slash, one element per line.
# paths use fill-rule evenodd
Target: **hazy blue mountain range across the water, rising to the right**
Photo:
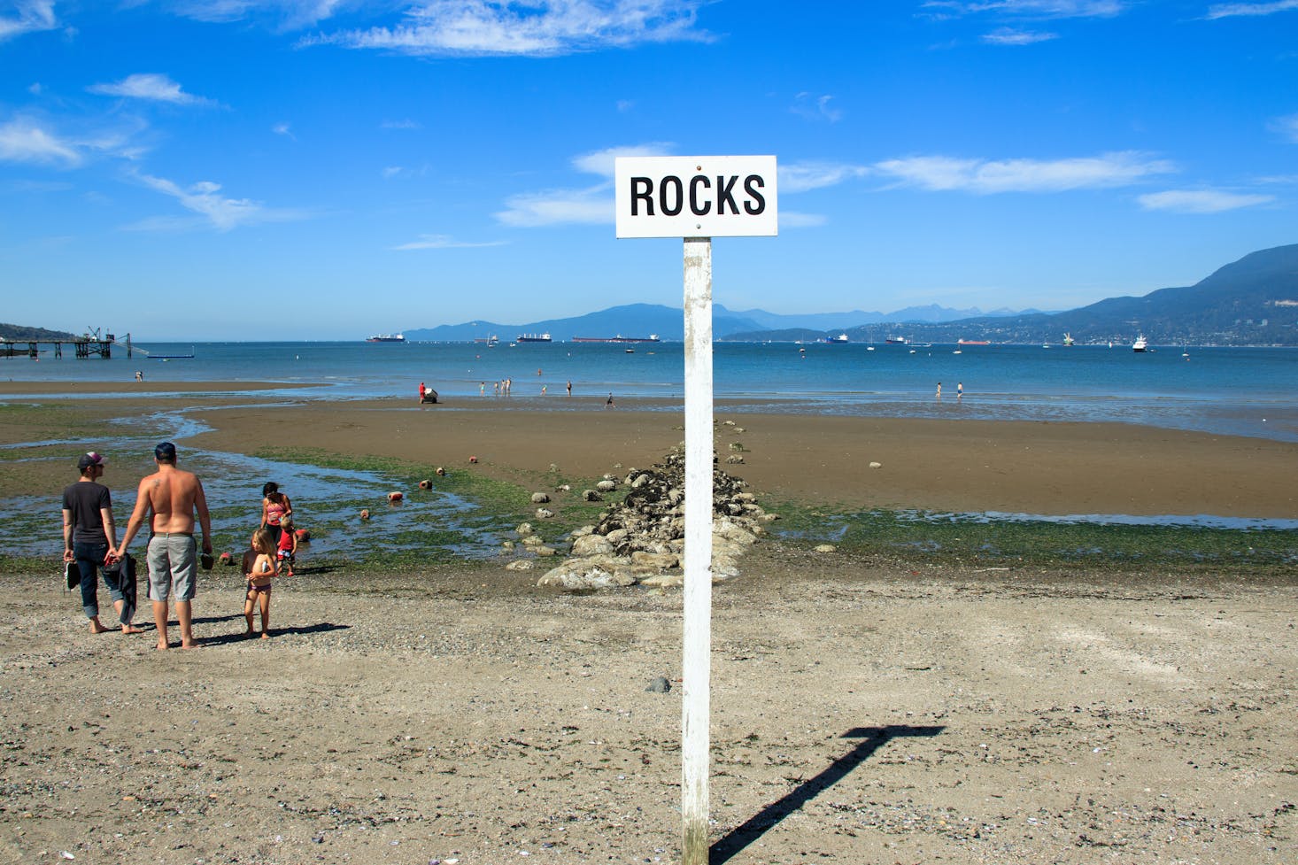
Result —
<path fill-rule="evenodd" d="M 406 329 L 408 340 L 467 342 L 487 336 L 510 340 L 518 334 L 548 332 L 556 342 L 572 336 L 684 338 L 680 308 L 627 304 L 571 318 L 522 325 L 474 321 L 431 329 Z M 1153 343 L 1194 345 L 1298 345 L 1298 244 L 1250 253 L 1198 283 L 1159 288 L 1140 297 L 1108 297 L 1066 312 L 1028 309 L 948 309 L 907 307 L 892 313 L 862 312 L 778 314 L 762 309 L 713 307 L 716 340 L 815 340 L 848 334 L 850 342 L 988 339 L 1035 344 L 1131 342 L 1144 334 Z"/>

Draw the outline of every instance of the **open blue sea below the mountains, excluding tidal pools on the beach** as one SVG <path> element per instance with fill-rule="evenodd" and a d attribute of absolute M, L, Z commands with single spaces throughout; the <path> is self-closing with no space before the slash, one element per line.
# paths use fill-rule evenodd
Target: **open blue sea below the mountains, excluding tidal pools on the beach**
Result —
<path fill-rule="evenodd" d="M 288 399 L 414 397 L 419 382 L 448 408 L 493 399 L 513 379 L 511 400 L 588 408 L 613 394 L 684 399 L 680 343 L 144 343 L 157 360 L 122 347 L 112 358 L 0 360 L 4 381 L 257 381 L 306 384 Z M 627 349 L 631 351 L 627 351 Z M 896 345 L 716 343 L 714 394 L 727 412 L 889 417 L 1118 421 L 1206 432 L 1298 440 L 1298 349 L 1155 345 Z M 567 382 L 572 400 L 566 399 Z M 942 383 L 942 399 L 935 394 Z M 955 397 L 957 384 L 964 396 Z M 271 388 L 274 391 L 274 388 Z M 13 399 L 13 397 L 10 397 Z"/>

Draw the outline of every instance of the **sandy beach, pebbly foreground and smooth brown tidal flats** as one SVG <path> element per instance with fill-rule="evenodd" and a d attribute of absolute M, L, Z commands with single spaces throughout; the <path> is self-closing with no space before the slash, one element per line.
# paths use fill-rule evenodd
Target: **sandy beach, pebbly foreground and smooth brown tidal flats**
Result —
<path fill-rule="evenodd" d="M 0 442 L 156 404 L 55 400 L 48 430 L 0 414 Z M 550 464 L 661 461 L 679 413 L 632 408 L 218 397 L 196 409 L 213 431 L 179 444 L 474 455 L 526 484 Z M 1294 444 L 716 417 L 759 497 L 1298 518 Z M 3 495 L 74 474 L 23 465 Z M 713 861 L 1292 862 L 1295 584 L 900 568 L 765 542 L 714 591 Z M 158 653 L 152 625 L 91 636 L 53 565 L 0 586 L 3 861 L 679 861 L 679 591 L 563 594 L 491 562 L 322 568 L 279 581 L 262 642 L 243 639 L 239 578 L 217 570 L 195 601 L 201 648 Z M 674 688 L 646 691 L 655 677 Z"/>

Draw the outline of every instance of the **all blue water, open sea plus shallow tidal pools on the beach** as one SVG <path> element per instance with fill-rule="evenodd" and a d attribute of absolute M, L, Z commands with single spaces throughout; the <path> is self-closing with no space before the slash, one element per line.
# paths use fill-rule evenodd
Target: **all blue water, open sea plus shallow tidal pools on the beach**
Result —
<path fill-rule="evenodd" d="M 135 373 L 148 382 L 253 381 L 306 384 L 240 394 L 234 401 L 301 401 L 401 397 L 414 401 L 419 382 L 436 388 L 443 410 L 509 399 L 519 407 L 589 409 L 611 392 L 620 410 L 679 410 L 684 399 L 684 356 L 680 343 L 624 345 L 601 343 L 144 343 L 143 352 L 112 358 L 67 356 L 0 360 L 0 404 L 22 403 L 6 395 L 5 379 L 47 382 L 122 382 L 139 395 Z M 158 358 L 170 355 L 170 358 Z M 192 357 L 174 357 L 192 355 Z M 509 397 L 495 395 L 495 383 L 513 379 Z M 1298 349 L 1155 347 L 1134 353 L 1129 345 L 864 345 L 790 343 L 718 343 L 714 352 L 718 412 L 785 412 L 889 417 L 1012 418 L 1035 421 L 1118 421 L 1201 430 L 1215 434 L 1298 440 Z M 572 397 L 566 396 L 572 383 Z M 942 383 L 942 399 L 936 397 Z M 963 384 L 964 395 L 957 399 Z M 546 395 L 541 395 L 541 388 Z M 65 394 L 52 388 L 51 394 Z M 653 397 L 650 401 L 648 397 Z M 101 399 L 87 394 L 84 399 Z M 204 395 L 196 394 L 193 408 Z M 167 409 L 149 418 L 148 431 L 135 418 L 114 418 L 104 401 L 105 425 L 84 442 L 27 442 L 31 445 L 75 445 L 99 449 L 110 460 L 148 455 L 158 435 L 182 443 L 202 431 L 192 412 Z M 9 449 L 9 448 L 5 448 Z M 38 449 L 43 449 L 39 448 Z M 43 458 L 43 457 L 19 457 Z M 444 544 L 437 530 L 454 529 L 453 552 L 465 557 L 497 556 L 496 531 L 483 525 L 471 503 L 432 492 L 408 497 L 398 510 L 374 508 L 366 529 L 357 530 L 362 505 L 382 503 L 392 481 L 373 473 L 318 469 L 240 453 L 186 452 L 186 468 L 204 478 L 213 526 L 222 543 L 241 547 L 260 516 L 261 484 L 274 479 L 293 497 L 313 530 L 312 560 L 326 562 L 335 552 L 363 556 L 391 549 L 393 531 L 405 543 Z M 143 470 L 143 457 L 136 458 Z M 113 464 L 110 464 L 113 465 Z M 121 464 L 117 464 L 121 465 Z M 131 470 L 110 474 L 118 521 L 134 501 Z M 69 478 L 75 477 L 69 471 Z M 1284 481 L 1277 479 L 1277 483 Z M 1175 505 L 1173 505 L 1175 507 Z M 57 558 L 57 508 L 48 500 L 0 500 L 0 545 L 9 555 Z M 53 514 L 53 517 L 51 517 Z M 1002 514 L 1002 517 L 1007 517 Z M 1009 517 L 1012 517 L 1010 514 Z M 1293 521 L 1250 521 L 1210 514 L 1142 517 L 1089 514 L 1068 520 L 1162 522 L 1198 526 L 1295 529 Z M 389 526 L 391 523 L 391 526 Z M 391 527 L 393 531 L 384 531 Z M 427 539 L 419 533 L 427 531 Z"/>

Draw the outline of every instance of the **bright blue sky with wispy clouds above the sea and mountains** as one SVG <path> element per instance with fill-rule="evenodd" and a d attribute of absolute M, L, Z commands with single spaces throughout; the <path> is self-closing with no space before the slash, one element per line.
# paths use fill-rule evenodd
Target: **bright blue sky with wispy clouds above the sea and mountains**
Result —
<path fill-rule="evenodd" d="M 681 304 L 618 155 L 775 155 L 714 299 L 1067 309 L 1298 242 L 1298 0 L 0 1 L 0 321 L 358 339 Z"/>

